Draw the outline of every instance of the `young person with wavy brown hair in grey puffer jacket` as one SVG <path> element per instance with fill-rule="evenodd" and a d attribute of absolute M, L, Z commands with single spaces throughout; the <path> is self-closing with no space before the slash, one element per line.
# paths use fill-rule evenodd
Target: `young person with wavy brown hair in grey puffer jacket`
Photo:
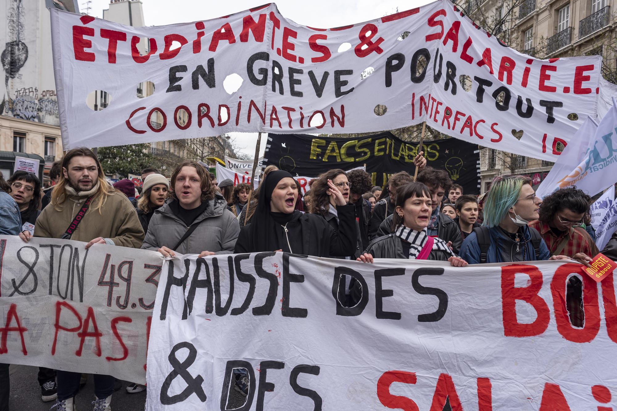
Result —
<path fill-rule="evenodd" d="M 233 252 L 238 220 L 215 193 L 210 173 L 197 162 L 184 161 L 174 170 L 170 189 L 172 198 L 155 210 L 141 248 L 165 257 Z"/>

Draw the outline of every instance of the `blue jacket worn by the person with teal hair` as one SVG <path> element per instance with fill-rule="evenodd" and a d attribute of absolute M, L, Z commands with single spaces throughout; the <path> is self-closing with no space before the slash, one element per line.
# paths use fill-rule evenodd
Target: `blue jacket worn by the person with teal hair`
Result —
<path fill-rule="evenodd" d="M 512 255 L 516 253 L 516 242 L 503 234 L 497 227 L 489 228 L 489 234 L 491 235 L 491 245 L 489 245 L 489 249 L 486 252 L 486 262 L 509 263 L 513 261 Z M 531 243 L 531 234 L 529 233 L 528 226 L 523 226 L 523 237 L 528 243 L 528 246 L 524 247 L 525 255 L 521 261 L 536 261 L 536 252 Z M 523 247 L 520 247 L 520 250 L 522 253 Z M 480 263 L 480 246 L 475 232 L 469 234 L 465 241 L 463 241 L 459 255 L 470 264 Z M 549 249 L 544 239 L 540 239 L 540 260 L 548 260 L 549 258 Z"/>

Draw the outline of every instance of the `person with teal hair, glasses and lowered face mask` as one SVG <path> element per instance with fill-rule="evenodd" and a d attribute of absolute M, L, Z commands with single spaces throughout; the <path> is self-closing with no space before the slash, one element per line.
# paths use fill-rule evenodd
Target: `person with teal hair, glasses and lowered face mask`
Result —
<path fill-rule="evenodd" d="M 539 217 L 540 204 L 528 177 L 495 177 L 484 199 L 484 223 L 463 241 L 460 256 L 470 264 L 567 259 L 551 256 L 538 231 L 528 226 Z"/>

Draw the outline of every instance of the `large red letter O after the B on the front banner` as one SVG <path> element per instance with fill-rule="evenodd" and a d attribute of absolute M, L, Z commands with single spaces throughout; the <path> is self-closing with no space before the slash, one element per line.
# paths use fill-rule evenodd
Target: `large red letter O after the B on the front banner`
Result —
<path fill-rule="evenodd" d="M 582 329 L 574 328 L 566 309 L 566 281 L 570 274 L 580 273 L 580 264 L 564 264 L 553 275 L 550 291 L 553 295 L 553 308 L 557 331 L 568 341 L 589 343 L 600 330 L 600 308 L 598 307 L 597 283 L 589 276 L 583 275 L 583 310 L 585 322 Z"/>

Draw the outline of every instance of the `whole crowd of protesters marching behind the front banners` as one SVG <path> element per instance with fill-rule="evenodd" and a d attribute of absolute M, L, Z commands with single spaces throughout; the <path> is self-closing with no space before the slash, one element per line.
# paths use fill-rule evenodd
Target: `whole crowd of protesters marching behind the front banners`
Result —
<path fill-rule="evenodd" d="M 452 266 L 512 261 L 573 259 L 588 265 L 598 253 L 590 229 L 592 199 L 576 188 L 555 191 L 544 202 L 529 178 L 493 180 L 483 196 L 463 194 L 445 170 L 414 160 L 417 177 L 391 175 L 372 186 L 362 169 L 326 170 L 302 197 L 293 175 L 275 166 L 263 170 L 259 186 L 217 182 L 201 162 L 184 161 L 170 180 L 144 169 L 139 188 L 128 179 L 113 186 L 93 151 L 68 151 L 54 163 L 46 190 L 28 172 L 5 181 L 0 174 L 0 234 L 73 239 L 206 257 L 224 253 L 290 252 L 372 263 L 373 258 L 449 261 Z M 78 210 L 85 215 L 75 227 Z M 73 224 L 73 229 L 70 226 Z M 617 260 L 617 233 L 603 250 Z M 362 290 L 346 276 L 338 298 L 352 306 Z M 568 284 L 571 322 L 582 326 L 581 281 Z M 0 364 L 0 411 L 8 410 L 9 369 Z M 240 391 L 244 376 L 236 374 Z M 43 401 L 75 410 L 80 373 L 39 368 Z M 244 387 L 244 388 L 242 388 Z M 111 410 L 118 381 L 94 376 L 94 409 Z M 143 391 L 131 384 L 128 393 Z"/>

